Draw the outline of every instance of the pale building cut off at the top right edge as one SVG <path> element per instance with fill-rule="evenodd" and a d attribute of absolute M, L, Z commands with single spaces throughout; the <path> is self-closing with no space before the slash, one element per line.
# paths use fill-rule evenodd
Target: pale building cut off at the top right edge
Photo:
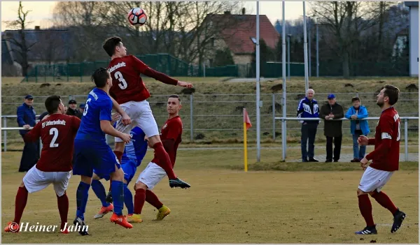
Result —
<path fill-rule="evenodd" d="M 419 76 L 419 2 L 405 1 L 409 7 L 409 75 Z"/>

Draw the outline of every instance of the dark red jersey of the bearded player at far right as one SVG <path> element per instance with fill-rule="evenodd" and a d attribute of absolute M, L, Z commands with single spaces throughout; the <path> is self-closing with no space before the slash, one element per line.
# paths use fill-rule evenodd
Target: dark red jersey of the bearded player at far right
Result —
<path fill-rule="evenodd" d="M 377 170 L 398 170 L 400 162 L 400 116 L 394 107 L 384 110 L 374 133 L 374 151 L 367 154 L 367 160 L 372 160 L 370 167 Z"/>

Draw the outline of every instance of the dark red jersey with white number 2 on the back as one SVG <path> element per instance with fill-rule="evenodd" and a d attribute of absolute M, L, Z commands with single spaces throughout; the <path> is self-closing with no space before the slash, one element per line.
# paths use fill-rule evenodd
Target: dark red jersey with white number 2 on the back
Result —
<path fill-rule="evenodd" d="M 34 142 L 41 137 L 41 158 L 36 168 L 43 172 L 68 172 L 72 168 L 74 138 L 80 126 L 78 117 L 51 114 L 38 122 L 25 135 L 26 142 Z"/>

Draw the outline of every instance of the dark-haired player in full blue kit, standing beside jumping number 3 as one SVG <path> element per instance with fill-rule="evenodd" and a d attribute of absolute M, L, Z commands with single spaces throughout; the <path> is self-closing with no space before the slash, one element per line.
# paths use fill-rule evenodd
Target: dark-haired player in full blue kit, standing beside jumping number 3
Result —
<path fill-rule="evenodd" d="M 124 124 L 130 124 L 130 117 L 108 95 L 112 80 L 105 68 L 98 68 L 92 75 L 96 87 L 87 96 L 83 120 L 74 140 L 74 165 L 73 175 L 80 175 L 80 184 L 77 188 L 77 211 L 73 224 L 84 227 L 87 196 L 92 183 L 93 169 L 97 175 L 110 175 L 114 198 L 114 213 L 111 222 L 132 228 L 123 216 L 124 207 L 124 172 L 121 170 L 120 161 L 113 154 L 112 149 L 106 144 L 105 134 L 130 142 L 131 136 L 116 131 L 111 125 L 111 111 L 113 107 L 121 114 Z M 87 232 L 79 232 L 88 235 Z"/>

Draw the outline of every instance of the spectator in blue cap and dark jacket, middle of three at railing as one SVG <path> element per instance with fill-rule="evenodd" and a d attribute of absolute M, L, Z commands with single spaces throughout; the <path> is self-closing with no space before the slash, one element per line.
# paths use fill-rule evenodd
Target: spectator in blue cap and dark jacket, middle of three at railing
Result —
<path fill-rule="evenodd" d="M 335 101 L 335 95 L 329 94 L 328 103 L 321 107 L 319 118 L 324 119 L 324 135 L 327 138 L 327 157 L 325 163 L 332 160 L 338 162 L 342 144 L 342 119 L 344 110 L 341 105 Z M 332 155 L 332 142 L 334 142 L 334 155 Z"/>

